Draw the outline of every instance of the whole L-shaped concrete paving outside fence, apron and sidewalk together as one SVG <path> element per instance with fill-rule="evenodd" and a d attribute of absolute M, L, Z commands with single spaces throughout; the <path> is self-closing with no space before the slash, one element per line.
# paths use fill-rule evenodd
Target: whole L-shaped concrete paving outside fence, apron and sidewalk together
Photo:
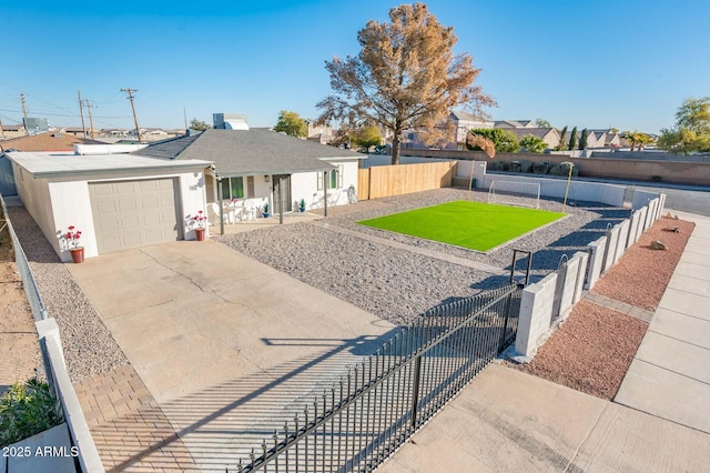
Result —
<path fill-rule="evenodd" d="M 696 229 L 615 402 L 489 365 L 378 469 L 710 471 L 710 218 Z"/>

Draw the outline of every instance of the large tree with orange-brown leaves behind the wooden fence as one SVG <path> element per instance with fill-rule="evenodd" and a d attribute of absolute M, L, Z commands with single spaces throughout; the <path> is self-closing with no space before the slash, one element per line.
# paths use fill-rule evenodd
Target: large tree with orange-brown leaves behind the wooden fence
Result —
<path fill-rule="evenodd" d="M 449 111 L 468 105 L 483 115 L 493 99 L 474 80 L 480 72 L 473 58 L 453 52 L 456 36 L 424 3 L 389 10 L 390 22 L 367 22 L 358 31 L 357 57 L 333 58 L 325 68 L 333 92 L 317 103 L 321 121 L 354 114 L 361 121 L 392 130 L 392 163 L 399 163 L 405 131 L 417 131 L 436 143 L 448 130 Z"/>

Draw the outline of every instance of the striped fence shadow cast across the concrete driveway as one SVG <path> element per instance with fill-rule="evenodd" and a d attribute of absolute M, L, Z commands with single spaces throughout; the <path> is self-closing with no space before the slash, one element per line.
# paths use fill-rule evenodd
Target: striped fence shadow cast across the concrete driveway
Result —
<path fill-rule="evenodd" d="M 315 358 L 284 360 L 267 370 L 255 370 L 250 375 L 161 403 L 160 409 L 175 432 L 172 440 L 182 440 L 199 471 L 224 471 L 240 459 L 247 461 L 253 447 L 273 437 L 286 422 L 293 422 L 295 412 L 306 403 L 312 404 L 324 391 L 329 392 L 341 376 L 347 375 L 352 366 L 362 363 L 398 330 L 346 340 L 262 339 L 264 350 L 288 345 L 317 346 L 322 351 Z M 132 427 L 124 425 L 124 429 Z M 170 449 L 171 440 L 160 447 Z M 154 447 L 138 450 L 115 470 L 121 471 L 153 451 Z"/>

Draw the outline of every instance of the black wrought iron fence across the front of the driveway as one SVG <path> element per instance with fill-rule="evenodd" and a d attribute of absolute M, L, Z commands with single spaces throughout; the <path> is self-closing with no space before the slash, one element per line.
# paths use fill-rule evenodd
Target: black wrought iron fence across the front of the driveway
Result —
<path fill-rule="evenodd" d="M 374 470 L 515 340 L 523 288 L 426 312 L 314 397 L 236 471 Z"/>

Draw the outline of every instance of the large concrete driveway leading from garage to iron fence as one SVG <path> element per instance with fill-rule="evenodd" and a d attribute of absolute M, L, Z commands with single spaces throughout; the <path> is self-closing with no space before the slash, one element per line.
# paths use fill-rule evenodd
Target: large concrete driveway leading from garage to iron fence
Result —
<path fill-rule="evenodd" d="M 394 330 L 214 241 L 68 268 L 200 470 L 245 457 Z"/>

